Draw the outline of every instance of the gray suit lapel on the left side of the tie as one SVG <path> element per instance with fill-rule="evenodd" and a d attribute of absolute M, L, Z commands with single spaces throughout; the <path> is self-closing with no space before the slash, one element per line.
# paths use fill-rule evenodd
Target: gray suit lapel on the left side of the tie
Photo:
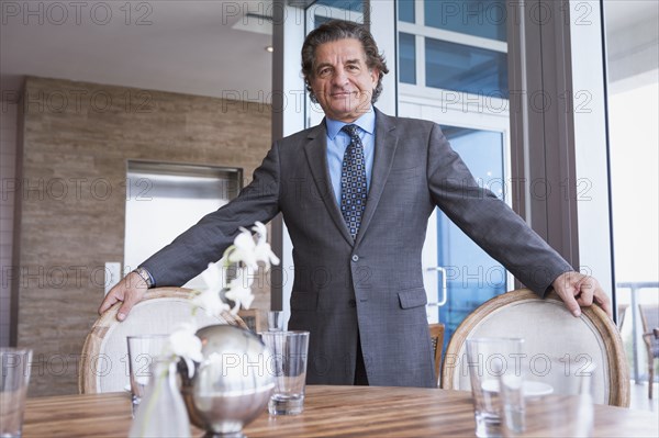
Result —
<path fill-rule="evenodd" d="M 353 245 L 353 237 L 340 214 L 340 209 L 334 199 L 334 190 L 332 189 L 332 180 L 327 167 L 327 132 L 324 120 L 309 132 L 308 139 L 309 142 L 304 145 L 304 153 L 306 154 L 306 160 L 309 161 L 316 189 L 339 233 Z"/>

